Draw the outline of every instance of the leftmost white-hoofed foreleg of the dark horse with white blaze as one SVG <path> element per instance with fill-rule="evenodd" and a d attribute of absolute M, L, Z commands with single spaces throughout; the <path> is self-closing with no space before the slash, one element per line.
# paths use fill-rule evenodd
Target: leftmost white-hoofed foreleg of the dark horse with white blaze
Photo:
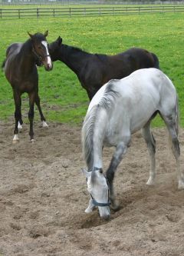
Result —
<path fill-rule="evenodd" d="M 21 95 L 19 91 L 13 91 L 15 101 L 15 129 L 13 143 L 18 142 L 18 122 L 21 120 Z"/>

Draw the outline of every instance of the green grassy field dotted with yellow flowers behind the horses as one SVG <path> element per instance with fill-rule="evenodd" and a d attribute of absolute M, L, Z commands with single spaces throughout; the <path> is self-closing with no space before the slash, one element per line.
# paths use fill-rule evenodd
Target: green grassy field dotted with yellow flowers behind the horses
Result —
<path fill-rule="evenodd" d="M 126 15 L 92 18 L 40 18 L 0 20 L 0 62 L 12 42 L 25 42 L 27 32 L 49 30 L 48 42 L 61 35 L 63 42 L 91 53 L 109 55 L 133 46 L 146 48 L 159 57 L 160 68 L 169 75 L 179 94 L 181 125 L 184 126 L 183 103 L 183 27 L 184 14 Z M 49 121 L 81 123 L 87 110 L 88 98 L 76 75 L 61 62 L 54 63 L 51 72 L 39 68 L 41 105 Z M 22 113 L 28 121 L 28 96 L 23 98 Z M 14 115 L 11 86 L 0 72 L 0 118 Z M 36 111 L 35 119 L 38 119 Z M 157 119 L 156 126 L 163 125 Z"/>

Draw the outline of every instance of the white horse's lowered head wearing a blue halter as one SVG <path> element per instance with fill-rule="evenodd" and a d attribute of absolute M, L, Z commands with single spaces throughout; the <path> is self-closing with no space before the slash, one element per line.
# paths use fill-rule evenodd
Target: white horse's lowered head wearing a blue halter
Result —
<path fill-rule="evenodd" d="M 100 217 L 104 219 L 110 218 L 110 201 L 109 201 L 109 187 L 107 179 L 104 176 L 101 168 L 94 168 L 93 171 L 82 170 L 87 178 L 87 191 L 90 193 L 91 205 L 88 210 L 97 206 L 99 209 Z M 86 211 L 90 212 L 90 211 Z"/>

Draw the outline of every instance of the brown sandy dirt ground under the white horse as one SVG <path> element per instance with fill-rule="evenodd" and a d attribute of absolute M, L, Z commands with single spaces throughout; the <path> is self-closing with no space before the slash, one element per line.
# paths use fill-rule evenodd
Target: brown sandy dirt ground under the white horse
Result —
<path fill-rule="evenodd" d="M 101 221 L 85 214 L 89 195 L 81 174 L 81 127 L 35 124 L 34 144 L 24 125 L 12 145 L 13 121 L 0 122 L 0 255 L 182 256 L 184 191 L 165 129 L 154 129 L 157 182 L 146 186 L 149 155 L 140 133 L 133 136 L 115 178 L 120 211 Z M 182 169 L 184 131 L 180 132 Z M 104 150 L 104 167 L 113 149 Z"/>

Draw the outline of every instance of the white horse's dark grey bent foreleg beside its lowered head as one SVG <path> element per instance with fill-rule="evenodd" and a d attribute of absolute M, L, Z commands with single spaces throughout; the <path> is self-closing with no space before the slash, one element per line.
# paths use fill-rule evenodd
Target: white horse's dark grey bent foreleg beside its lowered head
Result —
<path fill-rule="evenodd" d="M 125 144 L 124 142 L 120 142 L 120 144 L 117 145 L 116 151 L 113 154 L 113 158 L 110 161 L 110 166 L 107 169 L 107 181 L 109 182 L 111 208 L 113 208 L 114 210 L 117 210 L 119 208 L 119 204 L 115 199 L 113 191 L 113 178 L 114 173 L 117 170 L 117 166 L 123 159 L 123 155 L 126 154 L 127 145 L 128 143 Z"/>

